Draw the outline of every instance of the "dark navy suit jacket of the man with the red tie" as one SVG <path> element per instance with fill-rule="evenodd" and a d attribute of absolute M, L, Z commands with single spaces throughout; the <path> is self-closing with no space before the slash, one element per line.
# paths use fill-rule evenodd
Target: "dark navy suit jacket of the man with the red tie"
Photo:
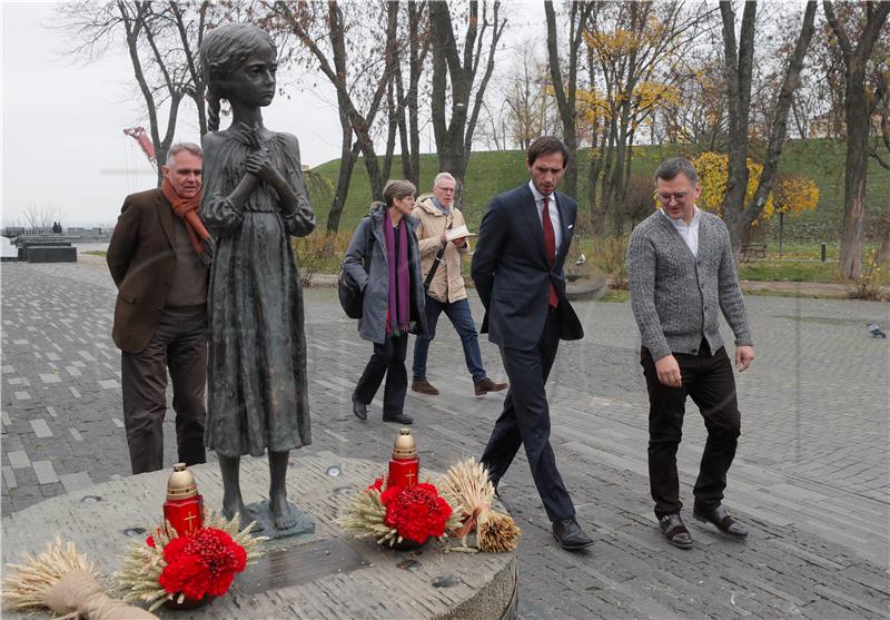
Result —
<path fill-rule="evenodd" d="M 544 230 L 528 185 L 496 196 L 482 218 L 472 276 L 485 306 L 482 333 L 498 346 L 534 348 L 547 319 L 550 284 L 560 297 L 561 338 L 584 337 L 581 322 L 565 298 L 563 263 L 572 244 L 577 205 L 555 191 L 562 244 L 553 267 L 544 254 Z"/>

